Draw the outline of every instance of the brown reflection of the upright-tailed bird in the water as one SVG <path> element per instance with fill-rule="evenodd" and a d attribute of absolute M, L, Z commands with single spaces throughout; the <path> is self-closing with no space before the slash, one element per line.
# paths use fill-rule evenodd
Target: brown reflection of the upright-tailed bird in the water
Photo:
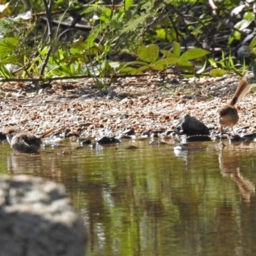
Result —
<path fill-rule="evenodd" d="M 223 177 L 230 177 L 236 181 L 244 201 L 250 202 L 251 196 L 255 195 L 255 185 L 240 173 L 240 157 L 234 154 L 234 150 L 220 150 L 219 165 Z"/>

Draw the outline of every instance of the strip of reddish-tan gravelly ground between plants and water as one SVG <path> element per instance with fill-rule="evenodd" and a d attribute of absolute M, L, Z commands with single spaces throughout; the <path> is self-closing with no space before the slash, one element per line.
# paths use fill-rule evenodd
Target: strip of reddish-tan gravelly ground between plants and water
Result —
<path fill-rule="evenodd" d="M 130 128 L 136 134 L 167 132 L 175 128 L 180 116 L 189 114 L 211 125 L 214 134 L 218 130 L 218 109 L 231 99 L 238 83 L 235 75 L 200 79 L 170 76 L 165 84 L 159 77 L 129 77 L 108 87 L 117 93 L 116 99 L 100 93 L 93 79 L 56 81 L 51 83 L 52 88 L 39 89 L 22 82 L 4 83 L 0 93 L 1 130 L 18 127 L 41 134 L 52 127 L 65 127 L 66 132 L 85 137 L 118 136 Z M 245 133 L 255 132 L 253 86 L 237 109 L 237 127 L 248 126 Z"/>

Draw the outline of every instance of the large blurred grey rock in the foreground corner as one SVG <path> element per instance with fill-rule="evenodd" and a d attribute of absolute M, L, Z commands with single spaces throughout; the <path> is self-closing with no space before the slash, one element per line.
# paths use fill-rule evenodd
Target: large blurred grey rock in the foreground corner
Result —
<path fill-rule="evenodd" d="M 0 176 L 0 256 L 84 256 L 87 234 L 62 184 Z"/>

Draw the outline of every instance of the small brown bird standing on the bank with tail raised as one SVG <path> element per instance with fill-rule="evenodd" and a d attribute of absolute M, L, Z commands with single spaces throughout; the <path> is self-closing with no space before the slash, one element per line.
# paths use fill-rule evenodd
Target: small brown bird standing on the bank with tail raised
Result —
<path fill-rule="evenodd" d="M 227 104 L 219 111 L 219 124 L 221 132 L 223 127 L 231 127 L 232 131 L 234 132 L 233 126 L 236 125 L 239 120 L 235 105 L 250 90 L 250 88 L 251 86 L 247 83 L 246 77 L 242 77 L 233 98 L 228 101 Z"/>

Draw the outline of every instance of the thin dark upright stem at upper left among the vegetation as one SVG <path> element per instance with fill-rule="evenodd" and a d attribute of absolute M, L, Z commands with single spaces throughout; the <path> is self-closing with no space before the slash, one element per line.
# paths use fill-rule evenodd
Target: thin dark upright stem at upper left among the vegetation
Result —
<path fill-rule="evenodd" d="M 49 5 L 47 4 L 47 1 L 46 0 L 43 0 L 44 2 L 44 6 L 45 6 L 45 12 L 46 12 L 46 17 L 47 17 L 47 23 L 48 23 L 48 42 L 51 44 L 51 41 L 52 41 L 52 18 L 51 18 L 51 10 L 52 10 L 52 4 L 53 4 L 53 1 L 54 0 L 49 0 Z M 44 59 L 44 63 L 42 65 L 42 68 L 40 70 L 40 77 L 42 77 L 44 75 L 44 70 L 45 70 L 45 67 L 48 63 L 48 60 L 50 58 L 50 55 L 51 55 L 51 51 L 52 51 L 52 45 L 49 45 L 49 48 L 48 48 L 48 52 L 45 56 L 45 59 Z"/>

